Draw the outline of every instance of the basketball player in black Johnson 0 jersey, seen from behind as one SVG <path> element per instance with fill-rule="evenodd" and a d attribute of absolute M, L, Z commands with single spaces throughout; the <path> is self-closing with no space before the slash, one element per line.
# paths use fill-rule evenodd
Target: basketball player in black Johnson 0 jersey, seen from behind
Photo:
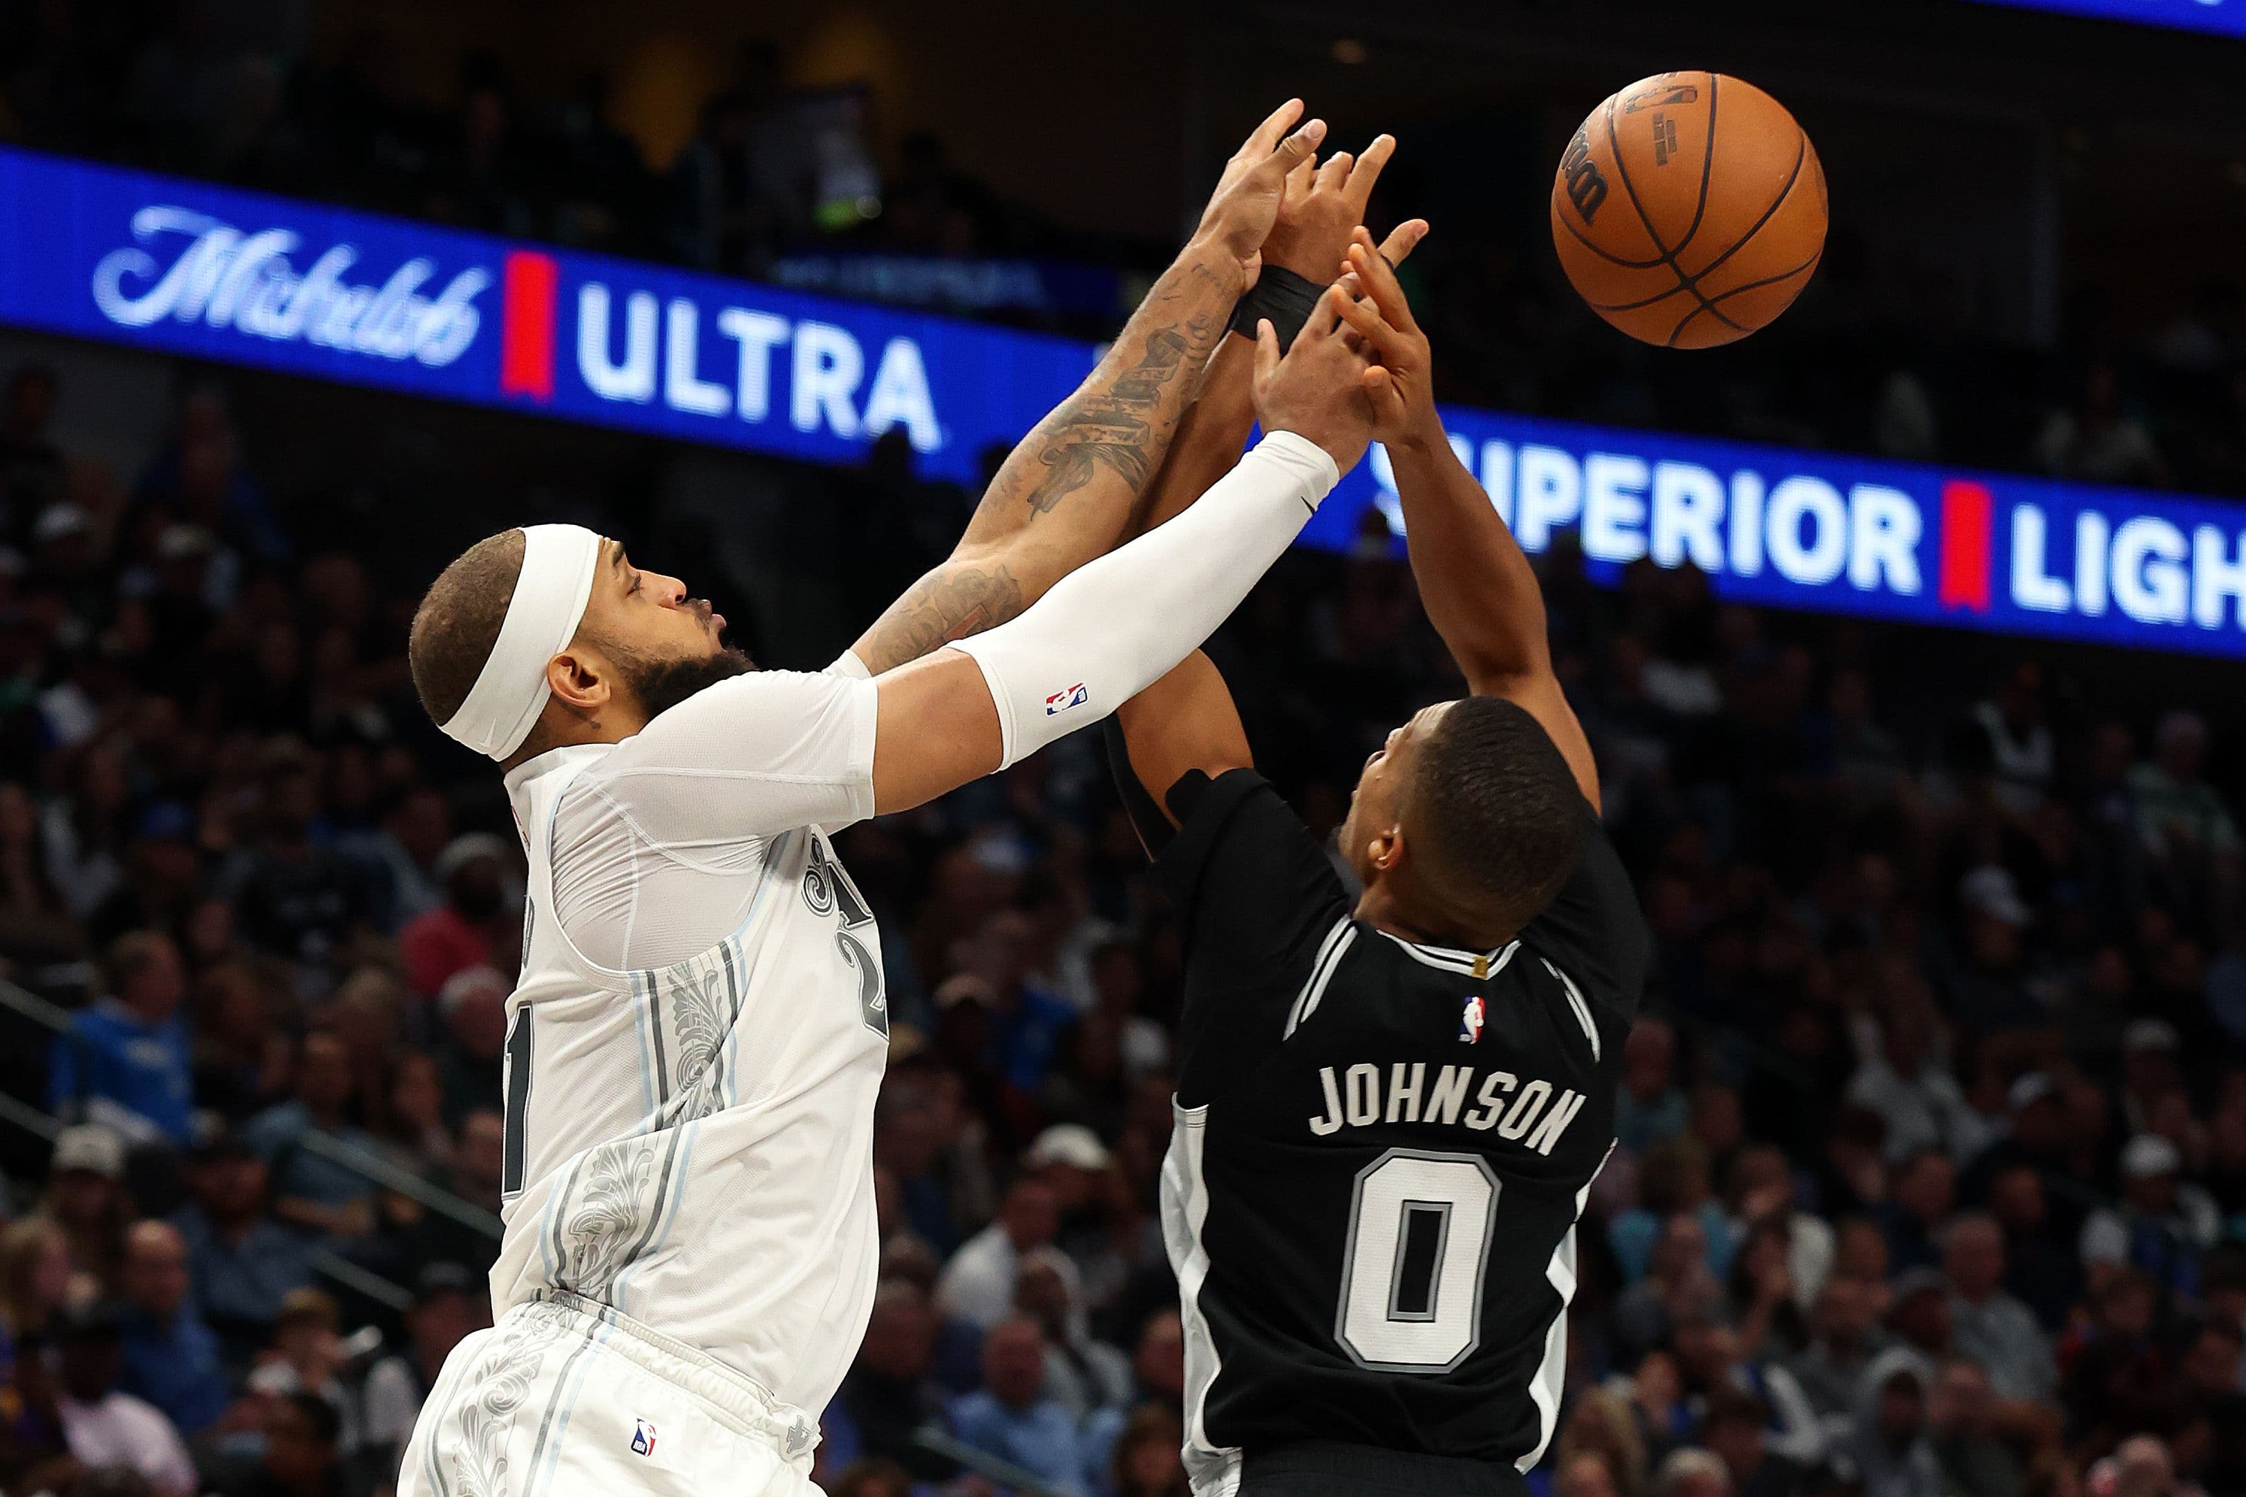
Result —
<path fill-rule="evenodd" d="M 1206 655 L 1110 725 L 1186 938 L 1161 1205 L 1197 1497 L 1525 1490 L 1649 952 L 1536 577 L 1444 440 L 1426 339 L 1361 229 L 1350 269 L 1410 563 L 1471 696 L 1366 761 L 1354 904 Z"/>

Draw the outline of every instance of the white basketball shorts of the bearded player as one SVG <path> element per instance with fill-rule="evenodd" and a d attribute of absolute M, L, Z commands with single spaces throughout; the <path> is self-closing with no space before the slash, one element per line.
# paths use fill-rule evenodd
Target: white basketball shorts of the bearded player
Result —
<path fill-rule="evenodd" d="M 445 1358 L 398 1497 L 818 1497 L 818 1439 L 701 1351 L 553 1293 Z"/>

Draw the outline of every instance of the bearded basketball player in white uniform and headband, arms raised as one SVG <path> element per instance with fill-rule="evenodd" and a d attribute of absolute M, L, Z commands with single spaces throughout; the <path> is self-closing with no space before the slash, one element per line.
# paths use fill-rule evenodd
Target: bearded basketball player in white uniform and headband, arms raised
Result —
<path fill-rule="evenodd" d="M 1132 525 L 1276 222 L 1321 278 L 1339 258 L 1350 224 L 1314 220 L 1352 164 L 1314 173 L 1323 126 L 1289 135 L 1298 114 L 1229 162 L 1193 242 L 1013 453 L 952 561 L 827 673 L 755 671 L 685 584 L 575 525 L 492 536 L 431 586 L 413 680 L 505 768 L 530 884 L 496 1324 L 447 1360 L 402 1497 L 811 1490 L 818 1409 L 874 1293 L 887 1050 L 880 943 L 829 835 L 1161 678 L 1363 453 L 1366 355 L 1327 292 L 1285 359 L 1262 330 L 1256 451 L 1098 554 Z M 1282 202 L 1307 206 L 1282 220 Z"/>

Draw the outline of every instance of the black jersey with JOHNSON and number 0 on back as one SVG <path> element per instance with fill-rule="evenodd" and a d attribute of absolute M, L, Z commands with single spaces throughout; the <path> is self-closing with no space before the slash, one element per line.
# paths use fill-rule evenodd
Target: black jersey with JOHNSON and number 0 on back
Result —
<path fill-rule="evenodd" d="M 1352 920 L 1253 770 L 1188 774 L 1168 801 L 1154 869 L 1186 983 L 1161 1205 L 1195 1490 L 1305 1441 L 1530 1470 L 1646 970 L 1613 844 L 1586 803 L 1552 907 L 1458 952 Z"/>

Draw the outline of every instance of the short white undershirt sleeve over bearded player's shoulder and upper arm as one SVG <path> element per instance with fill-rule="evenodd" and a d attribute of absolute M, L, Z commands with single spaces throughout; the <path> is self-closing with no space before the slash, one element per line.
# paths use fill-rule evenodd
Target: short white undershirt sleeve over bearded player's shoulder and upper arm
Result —
<path fill-rule="evenodd" d="M 874 815 L 869 680 L 750 671 L 705 687 L 584 772 L 564 801 L 609 801 L 647 842 L 714 848 Z"/>

